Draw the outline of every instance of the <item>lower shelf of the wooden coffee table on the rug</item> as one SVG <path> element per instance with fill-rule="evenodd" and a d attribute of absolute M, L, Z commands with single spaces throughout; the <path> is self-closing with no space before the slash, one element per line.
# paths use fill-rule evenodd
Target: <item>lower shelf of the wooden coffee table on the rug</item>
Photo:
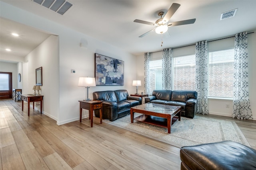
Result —
<path fill-rule="evenodd" d="M 178 119 L 179 119 L 178 116 L 172 117 L 172 124 Z M 134 120 L 140 121 L 140 122 L 143 122 L 143 123 L 147 123 L 147 124 L 150 124 L 150 125 L 156 125 L 156 126 L 159 126 L 159 127 L 168 128 L 167 119 L 162 118 L 162 117 L 156 117 L 156 116 L 143 114 L 143 115 L 140 115 L 138 117 L 135 117 Z"/>

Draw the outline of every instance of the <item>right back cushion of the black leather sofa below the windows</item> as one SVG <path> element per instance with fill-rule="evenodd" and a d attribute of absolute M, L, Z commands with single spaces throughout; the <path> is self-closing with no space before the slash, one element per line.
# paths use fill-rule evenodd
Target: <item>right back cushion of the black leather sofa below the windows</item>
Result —
<path fill-rule="evenodd" d="M 186 102 L 190 98 L 197 98 L 197 93 L 195 91 L 183 91 L 174 90 L 172 91 L 172 101 Z"/>

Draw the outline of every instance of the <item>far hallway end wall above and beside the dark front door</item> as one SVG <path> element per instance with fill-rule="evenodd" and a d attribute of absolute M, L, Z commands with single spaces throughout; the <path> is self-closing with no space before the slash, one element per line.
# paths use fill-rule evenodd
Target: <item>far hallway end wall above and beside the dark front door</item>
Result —
<path fill-rule="evenodd" d="M 6 63 L 0 62 L 1 72 L 11 72 L 12 73 L 12 88 L 18 89 L 18 70 L 16 63 Z"/>

